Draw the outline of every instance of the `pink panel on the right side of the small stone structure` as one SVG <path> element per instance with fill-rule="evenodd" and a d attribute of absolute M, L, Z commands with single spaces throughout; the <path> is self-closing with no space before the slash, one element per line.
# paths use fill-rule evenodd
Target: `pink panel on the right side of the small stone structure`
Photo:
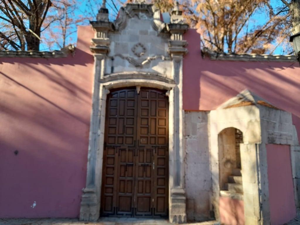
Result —
<path fill-rule="evenodd" d="M 296 216 L 290 150 L 273 144 L 266 149 L 271 224 L 281 225 Z"/>

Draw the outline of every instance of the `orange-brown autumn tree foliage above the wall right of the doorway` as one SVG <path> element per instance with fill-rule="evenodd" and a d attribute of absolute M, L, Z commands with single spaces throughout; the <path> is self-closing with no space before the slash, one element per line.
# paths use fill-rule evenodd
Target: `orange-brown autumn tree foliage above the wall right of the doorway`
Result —
<path fill-rule="evenodd" d="M 170 0 L 152 2 L 163 11 L 172 10 Z M 236 54 L 272 54 L 279 45 L 282 53 L 289 53 L 291 21 L 297 21 L 294 26 L 300 21 L 291 15 L 300 16 L 299 2 L 277 0 L 271 5 L 269 0 L 179 1 L 186 22 L 199 29 L 203 46 Z"/>

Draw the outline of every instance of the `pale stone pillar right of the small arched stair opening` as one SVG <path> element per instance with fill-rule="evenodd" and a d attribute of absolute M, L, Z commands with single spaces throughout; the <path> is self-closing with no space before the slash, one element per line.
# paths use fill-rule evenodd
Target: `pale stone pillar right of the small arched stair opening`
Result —
<path fill-rule="evenodd" d="M 241 143 L 240 149 L 245 225 L 269 224 L 270 209 L 265 144 Z"/>

